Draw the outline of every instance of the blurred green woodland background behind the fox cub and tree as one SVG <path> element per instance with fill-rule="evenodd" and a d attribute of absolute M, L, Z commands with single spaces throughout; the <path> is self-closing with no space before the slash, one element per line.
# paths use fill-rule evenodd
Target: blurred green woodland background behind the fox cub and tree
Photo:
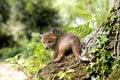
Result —
<path fill-rule="evenodd" d="M 105 20 L 108 8 L 108 0 L 0 0 L 0 60 L 33 55 L 41 45 L 39 32 L 53 27 L 87 35 Z"/>

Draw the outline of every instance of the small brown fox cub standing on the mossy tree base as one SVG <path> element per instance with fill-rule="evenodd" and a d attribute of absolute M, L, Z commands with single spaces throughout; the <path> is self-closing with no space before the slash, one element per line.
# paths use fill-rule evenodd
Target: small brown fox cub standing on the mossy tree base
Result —
<path fill-rule="evenodd" d="M 77 36 L 72 33 L 65 34 L 58 37 L 56 29 L 50 32 L 40 33 L 41 43 L 46 49 L 53 49 L 54 55 L 51 62 L 58 62 L 61 60 L 66 51 L 71 50 L 75 57 L 82 61 L 88 61 L 85 57 L 80 56 L 80 41 Z"/>

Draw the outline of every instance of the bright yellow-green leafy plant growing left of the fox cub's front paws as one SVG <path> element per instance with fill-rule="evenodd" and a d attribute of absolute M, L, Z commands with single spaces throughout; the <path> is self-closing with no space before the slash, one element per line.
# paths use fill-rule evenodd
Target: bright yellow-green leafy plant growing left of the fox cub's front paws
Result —
<path fill-rule="evenodd" d="M 6 61 L 13 64 L 13 67 L 18 67 L 29 80 L 39 80 L 37 78 L 39 69 L 43 68 L 51 57 L 51 55 L 47 53 L 52 54 L 52 51 L 45 50 L 42 44 L 40 44 L 29 58 L 25 60 L 20 59 L 22 55 L 18 54 L 13 58 L 6 59 Z"/>

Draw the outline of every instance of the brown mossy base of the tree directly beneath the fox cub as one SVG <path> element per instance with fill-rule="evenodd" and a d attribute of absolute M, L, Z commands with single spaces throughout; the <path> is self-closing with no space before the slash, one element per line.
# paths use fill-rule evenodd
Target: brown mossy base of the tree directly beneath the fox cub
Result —
<path fill-rule="evenodd" d="M 83 80 L 87 78 L 86 75 L 88 75 L 88 72 L 86 71 L 86 66 L 88 63 L 85 62 L 79 62 L 75 59 L 75 56 L 73 54 L 69 54 L 67 56 L 64 56 L 63 59 L 58 63 L 51 63 L 48 64 L 49 66 L 46 66 L 42 70 L 39 71 L 39 78 L 43 78 L 46 80 L 47 78 L 51 78 L 54 80 L 58 80 L 57 74 L 62 71 L 65 72 L 66 69 L 74 69 L 74 72 L 67 73 L 71 77 L 72 80 L 80 79 Z"/>

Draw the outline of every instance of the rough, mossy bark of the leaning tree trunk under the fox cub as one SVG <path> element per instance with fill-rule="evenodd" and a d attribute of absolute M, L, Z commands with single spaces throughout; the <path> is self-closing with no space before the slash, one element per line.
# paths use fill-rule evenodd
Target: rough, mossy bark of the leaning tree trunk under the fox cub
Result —
<path fill-rule="evenodd" d="M 108 32 L 108 33 L 107 33 Z M 86 36 L 82 43 L 81 55 L 91 55 L 91 48 L 98 46 L 97 37 L 107 35 L 109 39 L 108 43 L 103 45 L 104 49 L 111 52 L 113 58 L 120 56 L 120 1 L 118 0 L 112 7 L 106 21 L 99 27 L 99 29 Z M 95 56 L 94 56 L 95 57 Z M 94 60 L 94 59 L 93 59 Z M 86 70 L 86 66 L 89 65 L 87 62 L 79 62 L 75 59 L 73 54 L 65 55 L 63 59 L 58 63 L 50 63 L 38 72 L 38 77 L 43 80 L 58 80 L 58 73 L 63 72 L 66 75 L 71 76 L 71 80 L 84 80 L 89 79 L 90 75 Z M 66 72 L 67 69 L 73 69 L 72 72 Z M 120 79 L 120 68 L 119 71 L 111 72 L 107 76 L 108 80 Z M 116 74 L 117 73 L 117 74 Z M 116 74 L 116 75 L 113 75 Z M 112 76 L 111 76 L 112 75 Z M 115 79 L 114 77 L 117 77 Z M 62 80 L 66 80 L 63 78 Z"/>

